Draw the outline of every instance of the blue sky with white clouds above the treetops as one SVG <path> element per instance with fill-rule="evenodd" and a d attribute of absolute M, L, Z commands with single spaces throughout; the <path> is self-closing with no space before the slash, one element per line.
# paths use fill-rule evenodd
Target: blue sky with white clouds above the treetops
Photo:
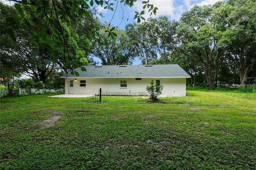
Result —
<path fill-rule="evenodd" d="M 154 7 L 157 7 L 158 10 L 156 15 L 152 14 L 151 17 L 158 18 L 159 16 L 167 16 L 169 20 L 180 20 L 182 13 L 189 11 L 194 5 L 204 6 L 212 5 L 218 2 L 219 0 L 150 0 L 149 4 L 154 4 Z M 103 18 L 100 18 L 101 22 L 110 22 L 112 26 L 119 26 L 118 29 L 124 30 L 126 24 L 134 23 L 134 11 L 142 11 L 143 5 L 142 0 L 137 0 L 134 2 L 134 6 L 130 8 L 129 6 L 124 6 L 120 4 L 119 1 L 109 0 L 109 4 L 114 3 L 113 8 L 117 7 L 116 11 L 111 11 L 102 8 L 99 6 L 97 9 L 102 15 Z M 145 9 L 143 15 L 144 18 L 150 18 L 150 13 Z"/>

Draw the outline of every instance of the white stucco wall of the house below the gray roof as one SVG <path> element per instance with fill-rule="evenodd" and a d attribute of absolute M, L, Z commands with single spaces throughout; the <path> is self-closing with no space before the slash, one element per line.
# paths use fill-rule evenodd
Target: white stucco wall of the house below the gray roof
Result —
<path fill-rule="evenodd" d="M 150 80 L 160 79 L 160 84 L 164 86 L 162 95 L 166 96 L 186 96 L 186 78 L 76 78 L 66 79 L 65 94 L 69 94 L 69 81 L 74 80 L 74 94 L 99 95 L 148 95 L 146 86 Z M 80 80 L 86 80 L 86 87 L 79 87 Z M 120 80 L 127 81 L 127 88 L 120 87 Z"/>

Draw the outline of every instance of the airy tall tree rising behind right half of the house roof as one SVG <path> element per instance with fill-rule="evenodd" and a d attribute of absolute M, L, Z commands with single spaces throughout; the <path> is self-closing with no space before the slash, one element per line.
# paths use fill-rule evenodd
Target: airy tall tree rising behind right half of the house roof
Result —
<path fill-rule="evenodd" d="M 168 21 L 166 16 L 149 18 L 143 23 L 128 24 L 126 32 L 129 36 L 131 52 L 142 64 L 159 57 L 167 57 L 173 49 L 176 22 Z"/>

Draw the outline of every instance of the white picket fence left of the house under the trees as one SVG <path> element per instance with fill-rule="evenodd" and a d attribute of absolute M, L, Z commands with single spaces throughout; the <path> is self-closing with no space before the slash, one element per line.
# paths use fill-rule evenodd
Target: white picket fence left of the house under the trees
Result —
<path fill-rule="evenodd" d="M 0 97 L 4 96 L 23 96 L 23 95 L 37 95 L 37 94 L 45 94 L 45 93 L 58 93 L 63 92 L 64 89 L 0 89 Z"/>

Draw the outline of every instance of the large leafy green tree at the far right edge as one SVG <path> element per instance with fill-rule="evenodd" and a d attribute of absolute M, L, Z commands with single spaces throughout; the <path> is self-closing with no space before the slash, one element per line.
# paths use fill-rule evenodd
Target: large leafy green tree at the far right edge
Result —
<path fill-rule="evenodd" d="M 228 0 L 215 10 L 222 25 L 220 45 L 239 70 L 241 86 L 246 86 L 256 65 L 256 0 Z"/>

